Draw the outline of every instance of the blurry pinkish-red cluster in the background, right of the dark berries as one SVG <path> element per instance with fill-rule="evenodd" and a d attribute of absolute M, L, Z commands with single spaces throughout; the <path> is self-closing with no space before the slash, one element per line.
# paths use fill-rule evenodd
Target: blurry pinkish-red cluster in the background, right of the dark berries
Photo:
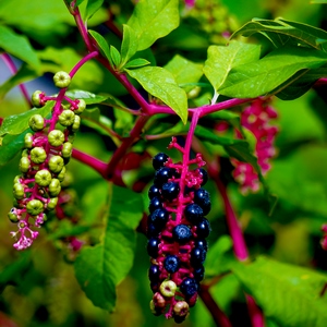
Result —
<path fill-rule="evenodd" d="M 242 126 L 251 131 L 256 138 L 254 155 L 257 157 L 257 164 L 263 174 L 270 169 L 269 159 L 276 154 L 274 142 L 278 128 L 270 125 L 270 121 L 276 118 L 275 109 L 267 104 L 267 100 L 259 98 L 246 107 L 241 114 Z M 238 137 L 242 137 L 240 132 L 238 132 Z M 259 181 L 254 168 L 250 164 L 234 158 L 231 162 L 235 167 L 233 178 L 241 184 L 241 191 L 243 193 L 250 190 L 257 191 Z"/>

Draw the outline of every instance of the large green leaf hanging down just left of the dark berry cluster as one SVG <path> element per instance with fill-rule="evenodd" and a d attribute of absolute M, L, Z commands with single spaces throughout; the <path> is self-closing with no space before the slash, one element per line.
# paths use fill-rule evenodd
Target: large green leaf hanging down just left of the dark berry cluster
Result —
<path fill-rule="evenodd" d="M 74 265 L 76 278 L 94 305 L 113 310 L 116 287 L 133 265 L 135 228 L 142 215 L 141 194 L 109 184 L 108 218 L 102 242 L 83 247 Z"/>

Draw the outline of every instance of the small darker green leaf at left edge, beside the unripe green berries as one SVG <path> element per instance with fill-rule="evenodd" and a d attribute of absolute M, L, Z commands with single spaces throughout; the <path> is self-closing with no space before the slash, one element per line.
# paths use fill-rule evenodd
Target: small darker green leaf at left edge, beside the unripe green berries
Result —
<path fill-rule="evenodd" d="M 32 132 L 32 130 L 19 135 L 7 134 L 2 138 L 0 146 L 0 167 L 7 165 L 24 148 L 24 136 L 27 132 Z"/>

